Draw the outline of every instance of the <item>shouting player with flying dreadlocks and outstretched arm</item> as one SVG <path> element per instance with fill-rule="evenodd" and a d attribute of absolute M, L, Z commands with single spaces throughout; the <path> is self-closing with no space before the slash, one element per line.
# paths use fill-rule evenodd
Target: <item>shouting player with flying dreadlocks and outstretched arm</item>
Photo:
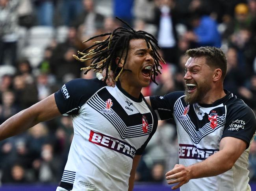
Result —
<path fill-rule="evenodd" d="M 128 27 L 99 35 L 106 40 L 74 55 L 91 60 L 85 73 L 114 71 L 115 87 L 98 79 L 71 80 L 0 126 L 3 140 L 39 122 L 72 115 L 74 137 L 57 191 L 132 191 L 135 169 L 158 124 L 141 89 L 150 78 L 155 82 L 164 61 L 152 35 Z"/>

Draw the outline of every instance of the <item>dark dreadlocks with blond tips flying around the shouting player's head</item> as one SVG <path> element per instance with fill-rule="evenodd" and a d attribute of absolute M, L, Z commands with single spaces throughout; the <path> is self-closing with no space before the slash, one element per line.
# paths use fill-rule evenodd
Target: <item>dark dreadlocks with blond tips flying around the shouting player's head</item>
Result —
<path fill-rule="evenodd" d="M 117 18 L 117 17 L 116 17 Z M 93 40 L 97 37 L 108 36 L 103 41 L 95 41 L 94 44 L 90 47 L 84 49 L 82 52 L 78 51 L 78 55 L 73 55 L 74 58 L 81 62 L 85 62 L 86 60 L 91 60 L 90 65 L 88 67 L 83 67 L 81 70 L 85 70 L 84 74 L 87 74 L 88 71 L 93 69 L 93 71 L 102 72 L 103 69 L 106 68 L 106 77 L 105 81 L 107 80 L 108 76 L 110 75 L 110 70 L 114 72 L 114 80 L 117 81 L 119 76 L 121 75 L 122 71 L 124 71 L 124 65 L 126 64 L 126 59 L 128 56 L 128 49 L 129 43 L 132 39 L 144 39 L 147 43 L 147 47 L 152 47 L 153 54 L 152 58 L 154 59 L 153 65 L 153 73 L 151 74 L 151 80 L 156 83 L 156 76 L 158 73 L 161 74 L 160 69 L 161 64 L 160 62 L 165 63 L 163 58 L 158 54 L 156 48 L 160 49 L 158 46 L 158 41 L 154 38 L 153 35 L 145 32 L 145 31 L 135 31 L 130 25 L 128 25 L 123 20 L 117 18 L 122 23 L 128 26 L 125 27 L 118 27 L 113 30 L 112 33 L 104 33 L 101 35 L 96 35 L 84 42 L 88 42 Z M 155 45 L 155 46 L 154 46 Z M 125 55 L 125 56 L 124 56 Z M 118 67 L 121 59 L 116 64 L 116 58 L 122 58 L 124 56 L 124 63 L 122 68 Z M 157 83 L 156 83 L 157 84 Z"/>

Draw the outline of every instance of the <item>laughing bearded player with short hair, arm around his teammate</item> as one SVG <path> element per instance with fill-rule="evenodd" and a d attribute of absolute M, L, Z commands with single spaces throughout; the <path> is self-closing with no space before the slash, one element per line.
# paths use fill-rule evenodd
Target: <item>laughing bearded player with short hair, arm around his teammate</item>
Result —
<path fill-rule="evenodd" d="M 250 191 L 247 167 L 255 115 L 223 89 L 227 60 L 221 49 L 199 47 L 186 54 L 185 92 L 146 97 L 159 120 L 176 122 L 179 164 L 166 180 L 181 191 Z"/>

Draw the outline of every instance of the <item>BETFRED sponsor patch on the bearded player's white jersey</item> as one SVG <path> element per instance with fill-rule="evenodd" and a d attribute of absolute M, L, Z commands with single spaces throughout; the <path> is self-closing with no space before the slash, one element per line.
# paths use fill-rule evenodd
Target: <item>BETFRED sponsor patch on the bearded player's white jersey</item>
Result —
<path fill-rule="evenodd" d="M 179 144 L 179 158 L 190 158 L 205 160 L 213 153 L 219 151 L 218 149 L 200 149 L 195 145 Z"/>

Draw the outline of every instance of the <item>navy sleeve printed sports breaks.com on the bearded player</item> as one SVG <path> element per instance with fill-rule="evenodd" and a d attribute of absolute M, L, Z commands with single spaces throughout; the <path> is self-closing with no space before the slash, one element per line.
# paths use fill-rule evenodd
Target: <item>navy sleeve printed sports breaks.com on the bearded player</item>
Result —
<path fill-rule="evenodd" d="M 247 143 L 248 148 L 255 131 L 256 118 L 250 107 L 242 103 L 227 107 L 226 124 L 222 138 L 226 136 L 239 138 Z"/>

